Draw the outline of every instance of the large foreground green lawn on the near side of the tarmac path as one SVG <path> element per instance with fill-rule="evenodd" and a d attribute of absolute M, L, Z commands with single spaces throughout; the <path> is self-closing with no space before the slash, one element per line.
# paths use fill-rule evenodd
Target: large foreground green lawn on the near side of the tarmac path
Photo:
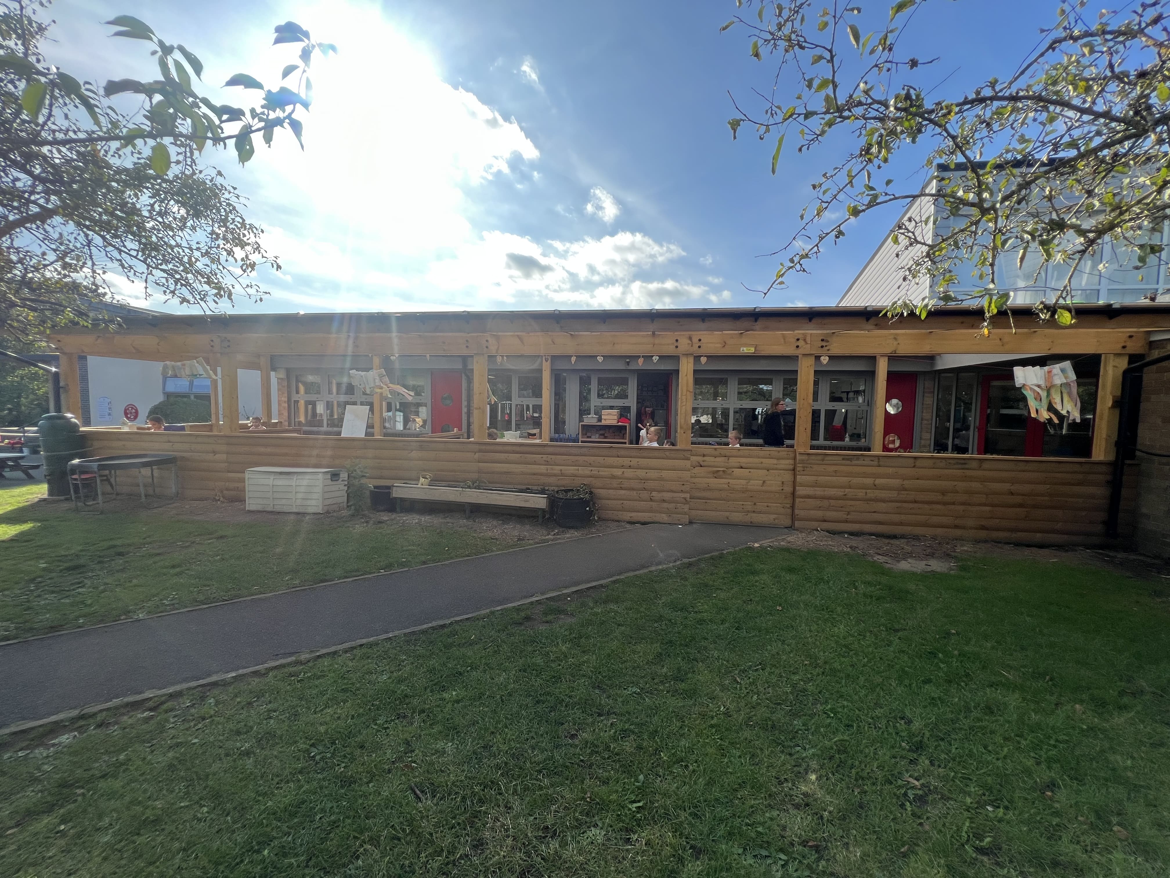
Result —
<path fill-rule="evenodd" d="M 0 873 L 1165 876 L 1157 589 L 629 577 L 4 742 Z"/>

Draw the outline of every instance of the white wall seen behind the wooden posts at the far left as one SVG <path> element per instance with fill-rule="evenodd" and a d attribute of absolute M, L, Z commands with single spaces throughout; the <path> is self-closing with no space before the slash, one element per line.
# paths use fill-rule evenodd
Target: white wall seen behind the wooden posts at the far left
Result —
<path fill-rule="evenodd" d="M 89 357 L 89 417 L 95 427 L 122 423 L 126 405 L 138 409 L 138 424 L 146 423 L 146 412 L 154 403 L 163 400 L 163 370 L 160 363 L 145 359 L 115 359 L 112 357 Z M 110 400 L 109 419 L 102 420 L 99 400 Z M 222 409 L 220 409 L 222 417 Z M 260 372 L 254 369 L 240 370 L 241 420 L 260 414 Z M 80 417 L 80 412 L 77 413 Z M 276 378 L 273 378 L 273 416 L 276 414 Z"/>

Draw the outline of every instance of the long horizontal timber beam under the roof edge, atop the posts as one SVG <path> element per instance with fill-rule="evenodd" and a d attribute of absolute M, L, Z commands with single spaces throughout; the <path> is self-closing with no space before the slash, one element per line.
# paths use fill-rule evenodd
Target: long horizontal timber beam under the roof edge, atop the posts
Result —
<path fill-rule="evenodd" d="M 1168 315 L 1170 316 L 1170 315 Z M 1170 325 L 1170 320 L 1166 321 Z M 922 324 L 928 325 L 928 324 Z M 938 327 L 941 324 L 929 324 Z M 997 330 L 984 338 L 973 329 L 870 327 L 848 330 L 775 331 L 721 330 L 691 325 L 686 331 L 516 332 L 338 332 L 245 334 L 232 336 L 166 336 L 121 334 L 55 335 L 62 351 L 129 359 L 181 359 L 212 356 L 219 348 L 249 362 L 264 355 L 386 355 L 434 354 L 469 357 L 489 355 L 559 356 L 739 356 L 744 348 L 756 356 L 793 354 L 932 355 L 932 354 L 1141 354 L 1148 332 L 1141 329 L 1018 329 Z"/>

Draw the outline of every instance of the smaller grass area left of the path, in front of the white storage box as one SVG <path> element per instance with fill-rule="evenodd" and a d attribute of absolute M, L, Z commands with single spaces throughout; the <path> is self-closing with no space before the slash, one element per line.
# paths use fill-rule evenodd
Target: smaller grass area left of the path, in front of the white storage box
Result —
<path fill-rule="evenodd" d="M 345 515 L 274 523 L 78 515 L 29 502 L 43 494 L 43 483 L 0 491 L 0 640 L 515 546 Z"/>

